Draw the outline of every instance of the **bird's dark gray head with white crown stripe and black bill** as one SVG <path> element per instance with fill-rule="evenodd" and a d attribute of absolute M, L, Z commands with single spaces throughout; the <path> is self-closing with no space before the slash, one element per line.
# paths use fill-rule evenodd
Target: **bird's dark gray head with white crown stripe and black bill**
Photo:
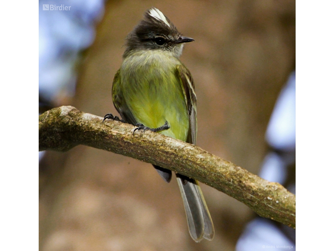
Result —
<path fill-rule="evenodd" d="M 182 36 L 174 24 L 157 8 L 149 9 L 144 19 L 127 36 L 127 49 L 123 58 L 138 50 L 169 51 L 179 58 L 184 43 L 194 41 Z"/>

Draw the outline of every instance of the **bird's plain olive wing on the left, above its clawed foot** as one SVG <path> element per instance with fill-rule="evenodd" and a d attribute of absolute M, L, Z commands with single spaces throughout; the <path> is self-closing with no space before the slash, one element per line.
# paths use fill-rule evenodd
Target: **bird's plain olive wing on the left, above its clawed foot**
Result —
<path fill-rule="evenodd" d="M 123 95 L 120 70 L 116 72 L 114 77 L 112 95 L 113 103 L 118 113 L 127 123 L 135 125 L 137 123 L 136 119 L 130 111 Z"/>

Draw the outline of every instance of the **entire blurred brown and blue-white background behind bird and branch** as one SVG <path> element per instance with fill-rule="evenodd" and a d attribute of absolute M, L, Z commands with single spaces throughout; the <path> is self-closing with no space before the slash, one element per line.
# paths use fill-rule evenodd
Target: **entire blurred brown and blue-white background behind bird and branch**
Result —
<path fill-rule="evenodd" d="M 124 39 L 152 6 L 195 39 L 181 61 L 197 145 L 295 193 L 295 1 L 39 1 L 39 113 L 117 114 Z M 175 176 L 167 184 L 150 164 L 86 146 L 39 159 L 40 250 L 295 249 L 295 230 L 204 184 L 215 237 L 195 243 Z"/>

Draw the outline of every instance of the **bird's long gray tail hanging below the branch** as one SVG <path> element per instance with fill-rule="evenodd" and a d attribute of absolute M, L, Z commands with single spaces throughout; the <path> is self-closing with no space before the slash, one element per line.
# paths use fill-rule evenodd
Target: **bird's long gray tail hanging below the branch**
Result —
<path fill-rule="evenodd" d="M 203 238 L 212 240 L 214 228 L 198 181 L 181 174 L 176 174 L 181 196 L 186 211 L 191 238 L 200 242 Z"/>

